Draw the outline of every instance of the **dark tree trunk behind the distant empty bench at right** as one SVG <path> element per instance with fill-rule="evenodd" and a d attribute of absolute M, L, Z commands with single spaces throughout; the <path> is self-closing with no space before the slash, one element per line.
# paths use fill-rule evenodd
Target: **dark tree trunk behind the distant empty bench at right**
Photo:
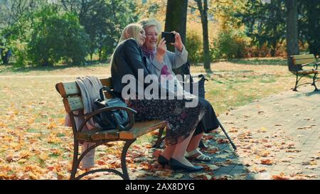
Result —
<path fill-rule="evenodd" d="M 287 61 L 289 71 L 296 71 L 300 67 L 294 67 L 290 55 L 299 55 L 298 45 L 298 6 L 297 0 L 286 0 L 287 7 Z"/>

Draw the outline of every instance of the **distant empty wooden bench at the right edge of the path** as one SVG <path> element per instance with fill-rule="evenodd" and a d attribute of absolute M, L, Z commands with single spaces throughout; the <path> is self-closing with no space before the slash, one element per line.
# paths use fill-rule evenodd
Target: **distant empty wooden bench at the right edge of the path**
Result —
<path fill-rule="evenodd" d="M 314 86 L 314 91 L 318 91 L 316 87 L 316 77 L 319 74 L 318 65 L 319 62 L 316 62 L 316 58 L 313 54 L 310 55 L 291 55 L 292 61 L 294 63 L 294 67 L 296 68 L 296 85 L 294 86 L 293 91 L 297 91 L 297 87 L 301 85 L 311 84 Z M 311 66 L 312 68 L 306 69 L 304 67 Z M 298 82 L 301 80 L 302 77 L 307 75 L 313 75 L 312 82 L 306 82 L 303 84 L 298 85 Z"/>

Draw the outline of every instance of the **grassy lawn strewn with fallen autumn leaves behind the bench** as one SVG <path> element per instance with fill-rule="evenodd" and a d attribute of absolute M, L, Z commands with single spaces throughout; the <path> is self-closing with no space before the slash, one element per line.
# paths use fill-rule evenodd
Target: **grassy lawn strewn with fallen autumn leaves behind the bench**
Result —
<path fill-rule="evenodd" d="M 272 65 L 274 63 L 274 65 Z M 213 63 L 207 75 L 206 99 L 217 114 L 269 95 L 290 90 L 294 75 L 285 60 L 234 60 Z M 193 66 L 191 72 L 204 72 Z M 75 80 L 78 75 L 110 76 L 110 66 L 97 64 L 82 67 L 13 69 L 0 66 L 0 179 L 65 179 L 70 176 L 73 149 L 72 131 L 63 126 L 65 110 L 55 83 Z M 152 136 L 147 135 L 132 148 L 146 150 Z M 115 143 L 114 143 L 115 144 Z M 112 149 L 100 148 L 96 156 L 99 166 L 119 163 Z M 106 162 L 111 161 L 111 162 Z M 129 163 L 137 168 L 137 164 Z"/>

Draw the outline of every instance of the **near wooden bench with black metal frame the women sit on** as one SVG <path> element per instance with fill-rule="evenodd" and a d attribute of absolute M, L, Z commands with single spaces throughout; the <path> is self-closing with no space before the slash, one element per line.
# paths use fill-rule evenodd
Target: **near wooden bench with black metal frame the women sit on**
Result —
<path fill-rule="evenodd" d="M 102 82 L 102 85 L 109 87 L 111 90 L 112 87 L 112 80 L 111 77 L 100 79 Z M 61 97 L 63 97 L 63 104 L 65 106 L 65 112 L 67 112 L 70 116 L 72 128 L 73 128 L 73 141 L 74 141 L 74 147 L 73 147 L 73 166 L 71 170 L 71 176 L 70 179 L 80 179 L 84 176 L 87 176 L 90 173 L 97 173 L 97 172 L 112 172 L 117 174 L 123 179 L 129 180 L 129 174 L 127 171 L 127 163 L 126 163 L 126 154 L 129 147 L 134 143 L 134 141 L 137 140 L 137 137 L 142 136 L 144 134 L 147 134 L 151 131 L 154 131 L 156 129 L 159 129 L 159 135 L 158 139 L 156 141 L 156 144 L 154 144 L 154 147 L 159 147 L 159 144 L 161 144 L 161 141 L 163 138 L 161 138 L 164 128 L 166 126 L 165 121 L 161 120 L 154 120 L 149 122 L 134 122 L 133 119 L 133 113 L 134 110 L 129 109 L 127 107 L 107 107 L 104 109 L 98 109 L 95 112 L 92 112 L 90 114 L 82 114 L 77 115 L 74 112 L 78 110 L 83 110 L 83 103 L 82 103 L 82 97 L 80 94 L 80 89 L 76 82 L 59 82 L 55 85 L 56 90 L 60 93 Z M 108 97 L 108 94 L 106 94 Z M 95 114 L 100 114 L 101 112 L 109 112 L 114 109 L 124 109 L 127 110 L 130 117 L 130 126 L 131 129 L 129 131 L 119 131 L 117 129 L 114 130 L 102 130 L 102 129 L 93 129 L 90 131 L 82 131 L 82 127 L 85 126 L 85 123 L 92 118 Z M 83 123 L 78 127 L 75 124 L 75 117 L 82 117 L 85 118 Z M 84 151 L 82 154 L 79 154 L 79 145 L 80 142 L 90 142 L 94 143 L 93 146 L 90 146 L 86 151 Z M 124 141 L 124 147 L 122 148 L 122 153 L 120 156 L 121 159 L 121 168 L 122 172 L 117 171 L 115 169 L 110 168 L 102 168 L 102 169 L 96 169 L 92 171 L 87 171 L 86 173 L 82 173 L 78 176 L 76 176 L 78 166 L 80 165 L 80 161 L 82 158 L 92 149 L 95 149 L 97 146 L 107 144 L 110 141 Z M 79 156 L 80 155 L 80 156 Z"/>

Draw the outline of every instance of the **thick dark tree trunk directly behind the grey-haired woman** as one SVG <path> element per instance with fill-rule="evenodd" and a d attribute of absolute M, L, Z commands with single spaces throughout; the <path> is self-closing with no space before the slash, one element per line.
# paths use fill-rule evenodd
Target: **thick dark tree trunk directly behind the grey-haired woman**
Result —
<path fill-rule="evenodd" d="M 166 4 L 166 24 L 164 31 L 180 33 L 182 43 L 186 45 L 186 16 L 188 0 L 168 0 Z M 174 52 L 173 45 L 166 45 L 168 50 Z"/>

